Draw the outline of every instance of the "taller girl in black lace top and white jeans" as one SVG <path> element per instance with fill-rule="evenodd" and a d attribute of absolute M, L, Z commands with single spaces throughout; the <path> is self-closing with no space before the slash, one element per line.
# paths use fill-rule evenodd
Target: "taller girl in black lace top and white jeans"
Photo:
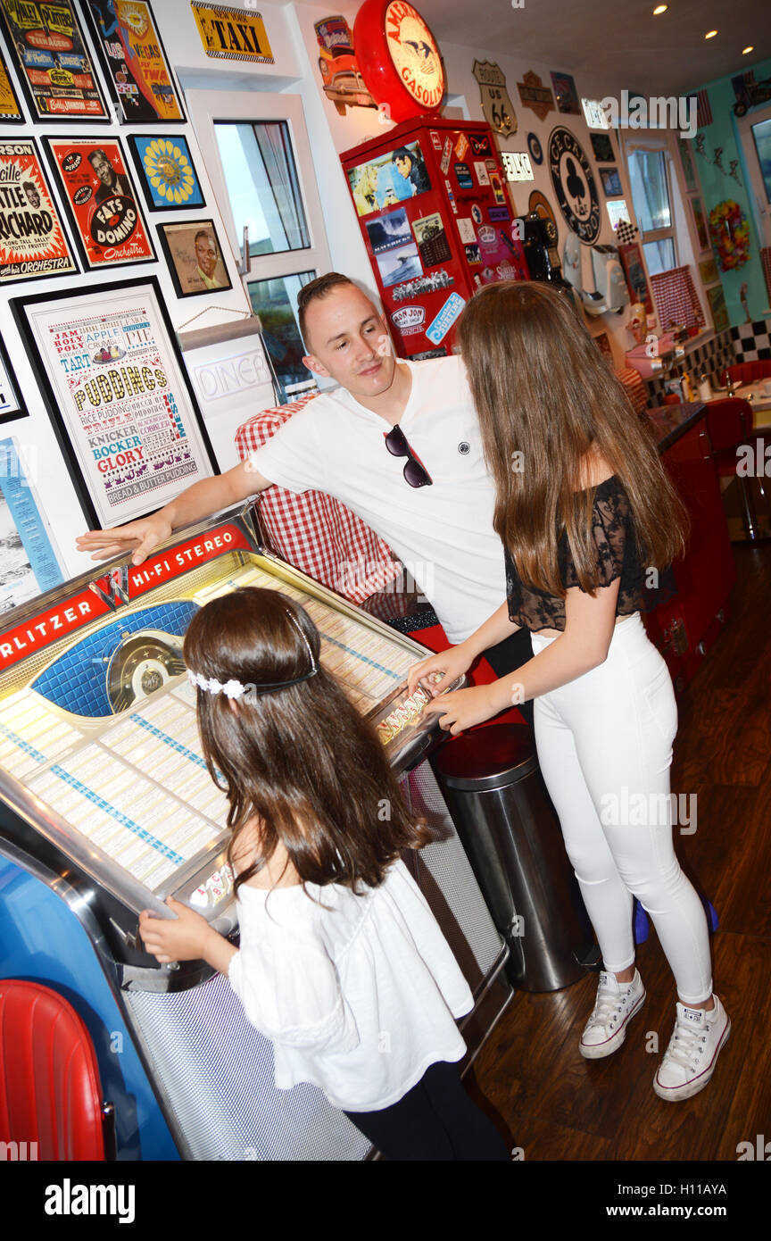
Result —
<path fill-rule="evenodd" d="M 636 896 L 678 990 L 653 1088 L 688 1098 L 712 1077 L 730 1021 L 713 995 L 704 910 L 672 845 L 677 706 L 640 616 L 683 551 L 684 509 L 562 294 L 535 282 L 483 288 L 464 311 L 459 343 L 496 483 L 508 601 L 466 642 L 418 664 L 410 684 L 436 671 L 449 683 L 513 629 L 532 632 L 529 663 L 425 710 L 457 733 L 534 699 L 540 768 L 604 959 L 580 1051 L 616 1051 L 645 1000 Z"/>

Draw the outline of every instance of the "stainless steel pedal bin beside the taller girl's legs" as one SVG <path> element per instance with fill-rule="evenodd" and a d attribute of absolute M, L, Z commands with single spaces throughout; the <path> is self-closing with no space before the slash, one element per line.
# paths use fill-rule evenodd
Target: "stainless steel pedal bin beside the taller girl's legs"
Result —
<path fill-rule="evenodd" d="M 469 861 L 526 992 L 584 977 L 591 930 L 532 732 L 500 724 L 454 737 L 431 759 Z"/>

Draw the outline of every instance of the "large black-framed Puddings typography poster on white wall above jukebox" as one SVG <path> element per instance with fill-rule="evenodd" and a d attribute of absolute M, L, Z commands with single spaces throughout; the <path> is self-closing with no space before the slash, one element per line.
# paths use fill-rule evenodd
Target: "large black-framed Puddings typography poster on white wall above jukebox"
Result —
<path fill-rule="evenodd" d="M 141 517 L 217 473 L 156 277 L 10 304 L 92 525 Z"/>

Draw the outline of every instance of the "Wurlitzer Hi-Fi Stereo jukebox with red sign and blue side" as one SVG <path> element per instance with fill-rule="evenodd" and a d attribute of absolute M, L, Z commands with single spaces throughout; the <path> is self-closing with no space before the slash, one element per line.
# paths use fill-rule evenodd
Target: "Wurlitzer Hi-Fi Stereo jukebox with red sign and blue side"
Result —
<path fill-rule="evenodd" d="M 405 678 L 424 649 L 263 551 L 245 510 L 177 531 L 139 567 L 123 560 L 16 608 L 0 632 L 0 978 L 52 987 L 83 1018 L 121 1159 L 368 1154 L 316 1087 L 275 1090 L 271 1045 L 226 978 L 159 964 L 138 936 L 141 910 L 169 916 L 167 895 L 238 932 L 227 803 L 181 649 L 196 609 L 242 586 L 306 608 L 322 663 L 374 721 L 414 808 L 444 828 L 409 864 L 475 994 L 471 1057 L 511 998 L 503 941 L 421 761 L 436 725 Z"/>

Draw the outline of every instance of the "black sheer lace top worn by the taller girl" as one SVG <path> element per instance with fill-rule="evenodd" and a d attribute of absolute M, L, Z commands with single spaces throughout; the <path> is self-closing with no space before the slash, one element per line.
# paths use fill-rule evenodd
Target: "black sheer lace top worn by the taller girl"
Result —
<path fill-rule="evenodd" d="M 631 616 L 633 612 L 650 612 L 677 593 L 671 568 L 658 573 L 657 585 L 648 585 L 648 577 L 656 581 L 656 575 L 648 573 L 640 563 L 628 496 L 621 479 L 615 474 L 595 488 L 593 531 L 600 570 L 597 586 L 610 586 L 616 577 L 621 578 L 616 602 L 617 617 Z M 565 589 L 578 586 L 575 565 L 564 530 L 559 541 L 558 561 Z M 506 593 L 508 616 L 514 624 L 533 630 L 565 628 L 565 601 L 547 594 L 538 587 L 524 586 L 508 551 L 506 551 Z"/>

